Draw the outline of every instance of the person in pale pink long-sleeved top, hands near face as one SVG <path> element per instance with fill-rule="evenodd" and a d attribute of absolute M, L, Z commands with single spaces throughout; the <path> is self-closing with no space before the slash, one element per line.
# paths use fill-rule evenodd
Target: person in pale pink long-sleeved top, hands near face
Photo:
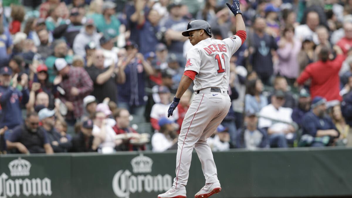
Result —
<path fill-rule="evenodd" d="M 301 41 L 294 37 L 294 31 L 294 27 L 285 27 L 282 33 L 283 37 L 278 42 L 279 49 L 277 50 L 279 57 L 277 73 L 284 76 L 290 85 L 293 85 L 298 77 L 297 58 L 302 47 Z"/>

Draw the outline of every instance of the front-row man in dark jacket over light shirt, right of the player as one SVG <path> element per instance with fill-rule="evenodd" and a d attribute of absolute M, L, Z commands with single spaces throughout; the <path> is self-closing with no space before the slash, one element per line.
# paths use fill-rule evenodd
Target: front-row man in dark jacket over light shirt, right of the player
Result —
<path fill-rule="evenodd" d="M 249 150 L 268 148 L 268 135 L 263 129 L 258 128 L 256 113 L 247 111 L 244 119 L 245 127 L 240 129 L 237 135 L 237 148 L 246 148 Z"/>

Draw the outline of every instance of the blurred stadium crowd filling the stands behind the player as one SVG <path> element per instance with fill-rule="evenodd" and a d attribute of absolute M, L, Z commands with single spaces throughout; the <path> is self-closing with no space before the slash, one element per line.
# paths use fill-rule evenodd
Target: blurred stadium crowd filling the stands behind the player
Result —
<path fill-rule="evenodd" d="M 0 2 L 2 153 L 177 149 L 194 95 L 167 118 L 192 47 L 181 32 L 236 32 L 226 0 Z M 247 40 L 211 148 L 352 146 L 352 0 L 240 4 Z"/>

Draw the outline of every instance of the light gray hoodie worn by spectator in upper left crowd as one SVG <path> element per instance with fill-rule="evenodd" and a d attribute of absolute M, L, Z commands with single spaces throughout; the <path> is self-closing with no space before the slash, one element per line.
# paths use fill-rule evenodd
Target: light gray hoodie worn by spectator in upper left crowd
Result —
<path fill-rule="evenodd" d="M 96 44 L 97 48 L 100 48 L 100 37 L 101 36 L 98 32 L 96 32 L 96 29 L 94 30 L 92 35 L 88 35 L 88 33 L 86 32 L 86 26 L 83 26 L 80 30 L 80 33 L 76 36 L 73 42 L 73 51 L 75 52 L 75 54 L 85 57 L 86 50 L 84 49 L 84 47 L 86 47 L 89 42 L 93 41 Z"/>

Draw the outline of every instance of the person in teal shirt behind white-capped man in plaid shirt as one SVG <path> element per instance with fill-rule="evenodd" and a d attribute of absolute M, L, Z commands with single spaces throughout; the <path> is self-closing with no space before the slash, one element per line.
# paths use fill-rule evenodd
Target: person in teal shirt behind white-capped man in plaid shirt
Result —
<path fill-rule="evenodd" d="M 64 40 L 59 39 L 54 43 L 54 54 L 46 58 L 45 65 L 48 67 L 49 82 L 54 82 L 56 77 L 54 64 L 57 58 L 65 58 L 66 62 L 71 62 L 72 57 L 68 55 L 67 44 Z"/>

